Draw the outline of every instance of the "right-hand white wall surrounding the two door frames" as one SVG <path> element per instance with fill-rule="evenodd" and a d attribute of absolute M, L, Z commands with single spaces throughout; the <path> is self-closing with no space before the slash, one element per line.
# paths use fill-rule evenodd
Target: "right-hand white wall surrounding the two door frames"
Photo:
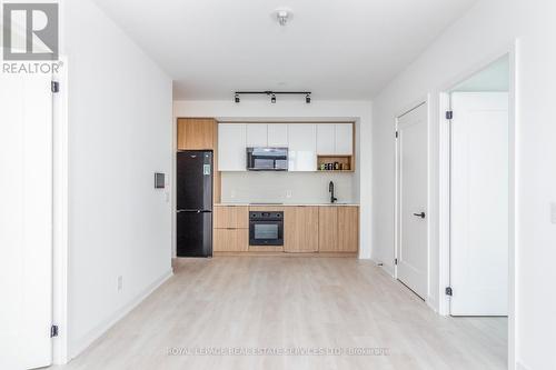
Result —
<path fill-rule="evenodd" d="M 393 268 L 394 119 L 430 98 L 430 190 L 438 192 L 438 92 L 510 50 L 517 50 L 516 360 L 525 369 L 556 368 L 556 126 L 550 119 L 556 80 L 556 3 L 546 0 L 484 0 L 454 23 L 373 104 L 373 258 Z M 431 259 L 438 266 L 438 202 L 431 199 Z M 435 271 L 434 271 L 435 272 Z M 437 271 L 436 271 L 437 273 Z M 431 281 L 433 294 L 438 282 Z M 436 283 L 436 287 L 435 287 Z M 434 297 L 437 298 L 437 297 Z M 512 364 L 510 364 L 512 366 Z"/>

